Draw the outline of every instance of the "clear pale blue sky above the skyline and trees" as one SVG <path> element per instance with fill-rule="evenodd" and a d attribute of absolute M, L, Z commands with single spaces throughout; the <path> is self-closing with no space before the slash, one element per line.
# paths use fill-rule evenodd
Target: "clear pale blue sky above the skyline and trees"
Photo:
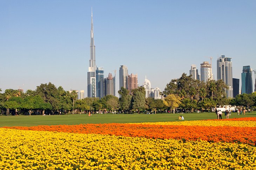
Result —
<path fill-rule="evenodd" d="M 117 70 L 117 90 L 120 65 L 161 90 L 209 57 L 216 79 L 221 54 L 240 86 L 243 66 L 256 69 L 255 0 L 0 0 L 2 91 L 52 82 L 87 93 L 91 8 L 96 65 Z"/>

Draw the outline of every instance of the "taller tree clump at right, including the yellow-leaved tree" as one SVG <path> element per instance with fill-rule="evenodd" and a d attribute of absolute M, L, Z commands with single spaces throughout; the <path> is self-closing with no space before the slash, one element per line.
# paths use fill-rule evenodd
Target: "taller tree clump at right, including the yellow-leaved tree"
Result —
<path fill-rule="evenodd" d="M 170 108 L 183 108 L 193 111 L 215 108 L 216 106 L 256 106 L 256 93 L 237 95 L 235 98 L 227 98 L 225 89 L 229 87 L 223 80 L 209 80 L 207 83 L 194 80 L 185 73 L 179 79 L 171 80 L 162 95 L 176 102 L 170 104 Z M 166 103 L 166 102 L 165 102 Z M 178 106 L 177 106 L 178 105 Z"/>

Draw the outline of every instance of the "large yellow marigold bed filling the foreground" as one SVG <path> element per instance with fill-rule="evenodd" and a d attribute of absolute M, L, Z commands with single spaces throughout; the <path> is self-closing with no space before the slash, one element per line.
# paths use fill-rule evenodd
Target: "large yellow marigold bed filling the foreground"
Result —
<path fill-rule="evenodd" d="M 0 128 L 0 169 L 256 169 L 256 147 Z"/>

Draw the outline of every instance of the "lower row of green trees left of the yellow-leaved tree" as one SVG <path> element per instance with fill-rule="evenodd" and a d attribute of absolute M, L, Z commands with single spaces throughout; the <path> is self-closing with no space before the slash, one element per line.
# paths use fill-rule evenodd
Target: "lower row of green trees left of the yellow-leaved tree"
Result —
<path fill-rule="evenodd" d="M 0 89 L 1 91 L 1 89 Z M 76 91 L 65 91 L 61 86 L 56 88 L 54 84 L 41 84 L 36 90 L 27 90 L 23 93 L 19 90 L 6 89 L 0 93 L 1 113 L 12 114 L 53 114 L 53 113 L 74 113 L 75 112 L 113 112 L 120 109 L 122 112 L 131 113 L 133 109 L 141 111 L 143 109 L 164 108 L 162 100 L 145 98 L 145 90 L 140 87 L 134 89 L 132 95 L 127 89 L 119 91 L 122 97 L 119 99 L 112 95 L 99 98 L 84 98 L 76 100 Z M 126 95 L 124 95 L 126 94 Z M 127 98 L 127 101 L 124 101 Z M 123 100 L 123 101 L 122 101 Z"/>

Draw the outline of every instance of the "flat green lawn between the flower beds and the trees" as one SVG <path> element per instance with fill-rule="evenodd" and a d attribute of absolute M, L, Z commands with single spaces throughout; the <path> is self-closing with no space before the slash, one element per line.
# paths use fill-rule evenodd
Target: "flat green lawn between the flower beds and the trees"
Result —
<path fill-rule="evenodd" d="M 182 115 L 185 120 L 216 119 L 213 113 L 184 113 L 184 114 L 67 114 L 67 115 L 46 115 L 46 116 L 0 116 L 0 127 L 3 126 L 37 126 L 37 125 L 78 125 L 88 123 L 140 123 L 157 121 L 183 121 L 178 120 Z M 237 115 L 231 113 L 230 118 L 256 117 L 256 112 Z M 224 113 L 222 118 L 225 119 Z"/>

